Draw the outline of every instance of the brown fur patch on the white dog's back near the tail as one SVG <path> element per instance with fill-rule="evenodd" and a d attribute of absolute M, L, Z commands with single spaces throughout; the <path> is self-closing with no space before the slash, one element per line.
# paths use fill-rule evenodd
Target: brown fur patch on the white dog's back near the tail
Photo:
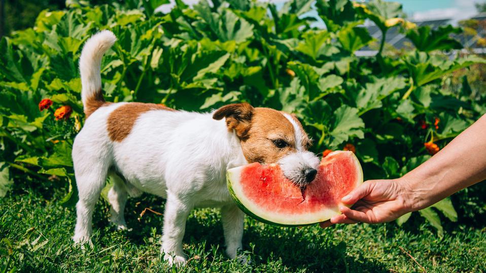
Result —
<path fill-rule="evenodd" d="M 172 108 L 155 103 L 130 102 L 116 108 L 108 116 L 108 135 L 112 141 L 121 142 L 131 132 L 138 117 L 147 111 L 166 110 L 175 111 Z"/>

